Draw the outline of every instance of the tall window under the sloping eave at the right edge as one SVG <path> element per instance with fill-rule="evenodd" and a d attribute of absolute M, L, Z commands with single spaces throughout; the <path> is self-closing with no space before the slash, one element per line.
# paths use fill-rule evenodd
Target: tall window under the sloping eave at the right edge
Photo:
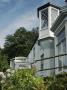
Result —
<path fill-rule="evenodd" d="M 63 30 L 58 34 L 57 36 L 58 39 L 58 65 L 59 65 L 59 71 L 62 70 L 62 66 L 65 66 L 66 63 L 66 56 L 60 56 L 61 54 L 65 54 L 66 53 L 66 39 L 65 39 L 65 29 L 63 28 Z"/>

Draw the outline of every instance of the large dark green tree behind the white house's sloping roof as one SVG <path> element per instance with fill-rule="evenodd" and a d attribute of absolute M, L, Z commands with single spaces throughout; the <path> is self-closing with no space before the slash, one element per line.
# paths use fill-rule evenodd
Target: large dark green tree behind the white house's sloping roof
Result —
<path fill-rule="evenodd" d="M 13 35 L 6 37 L 4 51 L 9 58 L 27 56 L 37 37 L 37 29 L 28 31 L 24 27 L 21 27 Z"/>

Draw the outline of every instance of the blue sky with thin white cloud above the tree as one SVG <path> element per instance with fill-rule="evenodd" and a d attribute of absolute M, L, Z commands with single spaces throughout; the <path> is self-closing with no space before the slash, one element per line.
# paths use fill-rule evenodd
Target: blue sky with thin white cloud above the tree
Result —
<path fill-rule="evenodd" d="M 3 48 L 6 36 L 16 29 L 37 27 L 37 8 L 48 1 L 64 4 L 64 0 L 0 0 L 0 47 Z"/>

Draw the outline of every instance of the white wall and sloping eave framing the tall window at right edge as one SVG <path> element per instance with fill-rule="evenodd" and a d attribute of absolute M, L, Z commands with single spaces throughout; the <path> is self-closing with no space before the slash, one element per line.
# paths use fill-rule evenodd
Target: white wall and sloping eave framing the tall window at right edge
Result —
<path fill-rule="evenodd" d="M 58 33 L 61 32 L 61 30 L 63 30 L 63 28 L 65 27 L 65 37 L 66 37 L 66 53 L 67 53 L 67 21 L 64 19 L 62 20 L 62 22 L 60 22 L 59 27 L 57 27 L 57 29 L 55 30 L 55 56 L 58 55 L 58 48 L 57 48 L 57 43 L 58 43 L 58 38 L 57 35 Z M 64 54 L 62 51 L 63 48 L 61 48 L 61 54 Z M 67 56 L 66 56 L 67 58 Z M 65 57 L 61 56 L 61 61 L 62 61 L 62 67 L 63 67 L 63 63 L 65 61 Z M 59 67 L 59 62 L 58 62 L 58 57 L 55 57 L 55 68 Z M 55 74 L 61 73 L 63 71 L 66 71 L 66 69 L 62 68 L 61 71 L 59 71 L 59 68 L 55 69 Z"/>

